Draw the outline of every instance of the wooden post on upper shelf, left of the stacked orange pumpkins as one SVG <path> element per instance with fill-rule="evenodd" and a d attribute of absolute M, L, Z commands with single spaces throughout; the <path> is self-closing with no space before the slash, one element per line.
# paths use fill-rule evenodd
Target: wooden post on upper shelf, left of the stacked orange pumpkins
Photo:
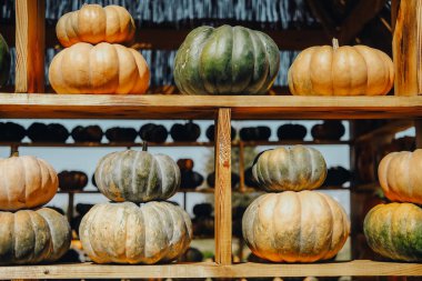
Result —
<path fill-rule="evenodd" d="M 44 0 L 16 0 L 14 92 L 44 92 Z"/>

